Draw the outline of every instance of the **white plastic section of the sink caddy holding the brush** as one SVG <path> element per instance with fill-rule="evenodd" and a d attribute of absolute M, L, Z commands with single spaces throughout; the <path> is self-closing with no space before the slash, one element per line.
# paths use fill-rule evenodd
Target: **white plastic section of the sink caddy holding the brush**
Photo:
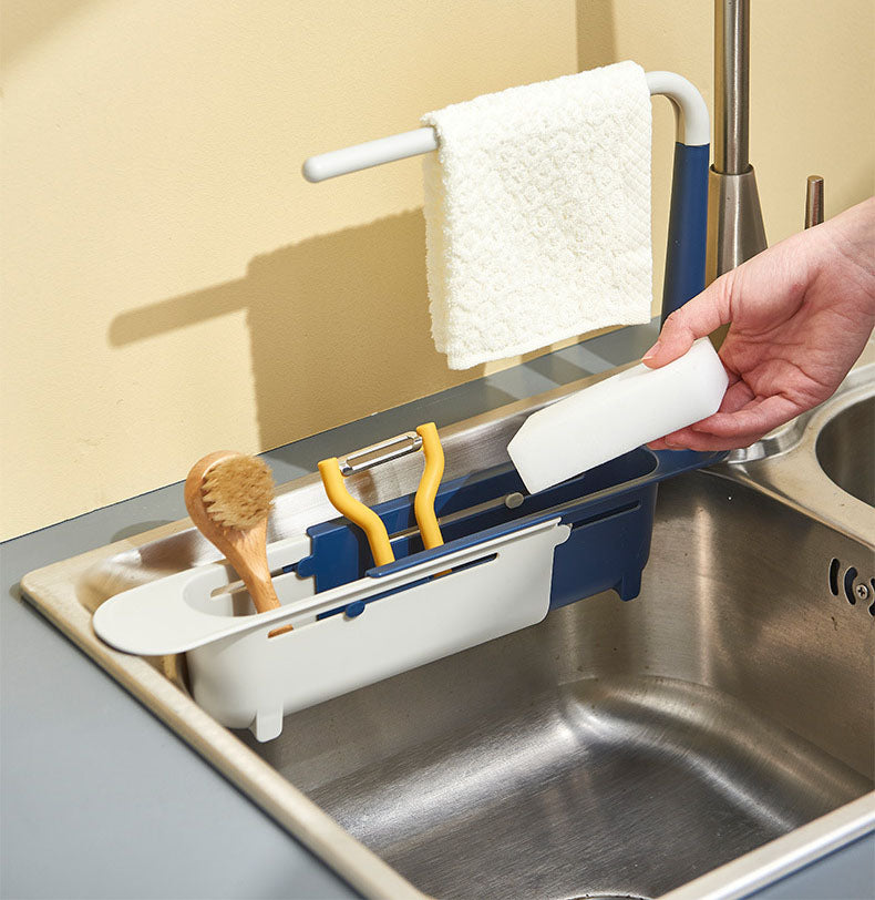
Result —
<path fill-rule="evenodd" d="M 556 518 L 320 594 L 289 572 L 274 579 L 281 608 L 260 614 L 234 614 L 234 572 L 213 563 L 117 594 L 93 625 L 127 653 L 186 653 L 197 703 L 270 740 L 289 713 L 539 622 L 553 551 L 569 533 Z M 309 552 L 308 538 L 290 539 L 268 548 L 268 563 L 276 571 Z M 354 601 L 367 604 L 358 615 L 318 618 Z"/>

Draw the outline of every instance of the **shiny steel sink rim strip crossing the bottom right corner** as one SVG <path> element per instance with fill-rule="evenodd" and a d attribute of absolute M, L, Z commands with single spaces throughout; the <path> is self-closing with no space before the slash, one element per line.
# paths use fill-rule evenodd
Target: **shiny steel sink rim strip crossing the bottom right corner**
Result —
<path fill-rule="evenodd" d="M 875 791 L 662 894 L 660 900 L 748 897 L 872 832 L 875 832 Z"/>

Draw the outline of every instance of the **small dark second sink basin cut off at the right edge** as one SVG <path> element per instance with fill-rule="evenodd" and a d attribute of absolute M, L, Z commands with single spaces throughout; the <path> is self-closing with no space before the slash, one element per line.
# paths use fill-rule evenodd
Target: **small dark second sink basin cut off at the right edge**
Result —
<path fill-rule="evenodd" d="M 835 418 L 817 436 L 817 461 L 844 491 L 875 507 L 875 397 L 864 397 Z"/>

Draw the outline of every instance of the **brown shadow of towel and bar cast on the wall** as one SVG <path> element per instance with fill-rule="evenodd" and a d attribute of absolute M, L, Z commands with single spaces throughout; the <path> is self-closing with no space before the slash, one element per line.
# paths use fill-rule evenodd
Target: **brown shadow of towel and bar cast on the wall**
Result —
<path fill-rule="evenodd" d="M 110 342 L 122 347 L 243 309 L 264 449 L 302 437 L 292 417 L 321 430 L 474 375 L 453 372 L 447 383 L 432 344 L 419 209 L 256 256 L 245 278 L 124 313 Z M 327 409 L 334 421 L 326 421 Z"/>

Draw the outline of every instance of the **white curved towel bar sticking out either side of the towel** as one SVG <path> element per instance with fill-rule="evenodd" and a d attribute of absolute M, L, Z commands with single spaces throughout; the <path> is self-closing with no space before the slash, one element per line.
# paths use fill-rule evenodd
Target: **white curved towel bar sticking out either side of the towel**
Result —
<path fill-rule="evenodd" d="M 711 123 L 708 106 L 696 85 L 675 72 L 647 72 L 645 78 L 651 96 L 663 94 L 672 101 L 678 124 L 678 141 L 691 146 L 710 143 Z M 393 163 L 395 160 L 418 156 L 432 150 L 437 150 L 437 135 L 434 129 L 416 129 L 310 156 L 305 161 L 302 172 L 308 182 L 323 182 L 337 175 L 348 175 L 350 172 Z"/>

